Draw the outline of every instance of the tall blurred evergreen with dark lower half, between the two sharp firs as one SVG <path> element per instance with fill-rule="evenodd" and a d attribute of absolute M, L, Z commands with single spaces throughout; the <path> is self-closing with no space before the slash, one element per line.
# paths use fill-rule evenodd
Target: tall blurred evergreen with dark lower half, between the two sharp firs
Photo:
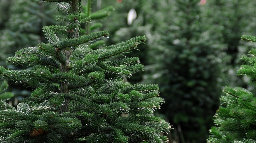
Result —
<path fill-rule="evenodd" d="M 159 112 L 172 123 L 173 139 L 203 143 L 219 106 L 220 63 L 225 54 L 214 42 L 215 35 L 208 33 L 211 25 L 203 23 L 198 0 L 170 0 L 167 5 L 170 17 L 160 25 L 161 37 L 152 42 L 145 82 L 159 84 L 168 103 Z"/>

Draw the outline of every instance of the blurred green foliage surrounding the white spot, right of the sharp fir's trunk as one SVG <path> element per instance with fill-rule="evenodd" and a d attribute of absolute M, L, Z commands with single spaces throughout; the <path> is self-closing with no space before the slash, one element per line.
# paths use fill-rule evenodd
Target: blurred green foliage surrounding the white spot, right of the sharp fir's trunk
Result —
<path fill-rule="evenodd" d="M 148 38 L 148 40 L 145 42 L 146 45 L 141 45 L 138 50 L 133 51 L 130 54 L 126 54 L 126 56 L 140 57 L 141 63 L 143 65 L 148 65 L 149 48 L 154 45 L 154 39 L 158 38 L 159 36 L 157 31 L 159 30 L 158 27 L 163 23 L 162 19 L 165 17 L 162 9 L 167 7 L 166 1 L 126 0 L 122 3 L 118 3 L 112 0 L 102 1 L 102 5 L 108 5 L 109 3 L 114 6 L 115 11 L 111 13 L 112 16 L 109 19 L 104 20 L 105 24 L 103 26 L 110 33 L 110 40 L 108 40 L 107 43 L 112 45 L 119 43 L 120 41 L 125 41 L 127 38 L 135 37 L 138 35 L 146 35 Z M 131 24 L 128 24 L 127 14 L 132 9 L 136 11 L 137 17 L 132 21 Z M 108 21 L 118 22 L 112 23 Z M 132 84 L 141 82 L 145 73 L 145 71 L 137 73 L 134 76 L 128 78 L 127 81 Z"/>

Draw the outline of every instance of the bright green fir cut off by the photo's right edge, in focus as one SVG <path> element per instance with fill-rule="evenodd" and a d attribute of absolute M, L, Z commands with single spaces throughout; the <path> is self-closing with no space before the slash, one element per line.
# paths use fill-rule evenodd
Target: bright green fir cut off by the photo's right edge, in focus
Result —
<path fill-rule="evenodd" d="M 243 40 L 256 42 L 254 36 L 242 36 Z M 238 75 L 249 76 L 255 85 L 256 49 L 242 56 L 244 64 Z M 255 143 L 256 142 L 256 97 L 246 89 L 226 87 L 225 96 L 221 96 L 221 106 L 215 114 L 208 143 Z"/>

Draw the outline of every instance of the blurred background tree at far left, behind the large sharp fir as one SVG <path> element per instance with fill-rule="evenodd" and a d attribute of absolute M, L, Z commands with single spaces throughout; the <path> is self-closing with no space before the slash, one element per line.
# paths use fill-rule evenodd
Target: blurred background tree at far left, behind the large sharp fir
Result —
<path fill-rule="evenodd" d="M 34 0 L 0 0 L 0 66 L 9 69 L 25 69 L 28 67 L 6 65 L 6 57 L 36 43 L 46 42 L 42 27 L 53 24 L 54 5 L 35 3 Z M 16 106 L 18 102 L 30 94 L 26 87 L 11 83 L 10 90 L 15 98 L 10 104 Z"/>

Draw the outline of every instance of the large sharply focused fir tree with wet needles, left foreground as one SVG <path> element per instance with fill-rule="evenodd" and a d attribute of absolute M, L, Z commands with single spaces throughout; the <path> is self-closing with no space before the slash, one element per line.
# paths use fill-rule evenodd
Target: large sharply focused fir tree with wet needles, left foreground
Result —
<path fill-rule="evenodd" d="M 164 143 L 170 125 L 153 111 L 164 102 L 155 84 L 128 86 L 123 77 L 143 69 L 137 57 L 111 59 L 130 52 L 145 36 L 92 50 L 88 45 L 107 31 L 81 35 L 81 0 L 56 2 L 66 26 L 44 26 L 48 43 L 24 48 L 7 58 L 28 64 L 29 70 L 0 68 L 2 78 L 33 88 L 17 109 L 0 101 L 0 141 L 3 143 Z M 66 35 L 60 38 L 56 33 Z"/>

